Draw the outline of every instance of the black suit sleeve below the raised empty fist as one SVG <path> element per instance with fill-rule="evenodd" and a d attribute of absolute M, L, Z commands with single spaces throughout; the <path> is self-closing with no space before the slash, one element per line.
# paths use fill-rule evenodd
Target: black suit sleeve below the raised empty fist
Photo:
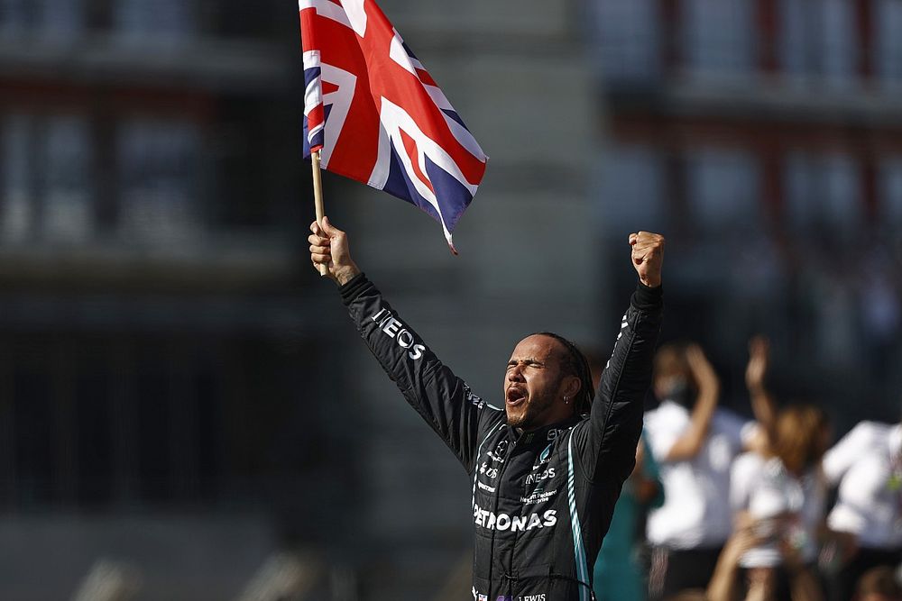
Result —
<path fill-rule="evenodd" d="M 663 313 L 661 287 L 639 284 L 621 320 L 611 359 L 602 372 L 589 419 L 575 432 L 587 478 L 625 480 L 636 463 L 642 432 L 642 402 L 651 385 L 651 366 Z"/>

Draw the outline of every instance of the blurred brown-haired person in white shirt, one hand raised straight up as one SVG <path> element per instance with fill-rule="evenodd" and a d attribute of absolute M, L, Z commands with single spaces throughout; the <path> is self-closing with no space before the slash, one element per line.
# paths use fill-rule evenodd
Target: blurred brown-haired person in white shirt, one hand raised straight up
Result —
<path fill-rule="evenodd" d="M 826 481 L 821 469 L 830 439 L 826 414 L 814 405 L 779 412 L 764 385 L 768 343 L 750 343 L 746 369 L 751 405 L 765 444 L 732 466 L 730 502 L 738 528 L 751 527 L 763 541 L 740 560 L 748 580 L 767 598 L 823 598 L 816 578 L 818 533 L 824 524 Z M 804 588 L 805 595 L 797 594 Z"/>

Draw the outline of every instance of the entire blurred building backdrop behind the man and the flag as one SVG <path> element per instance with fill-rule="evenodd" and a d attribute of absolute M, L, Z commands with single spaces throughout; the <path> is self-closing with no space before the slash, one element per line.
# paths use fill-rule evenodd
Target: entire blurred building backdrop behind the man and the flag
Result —
<path fill-rule="evenodd" d="M 458 258 L 327 213 L 476 394 L 529 332 L 610 348 L 645 229 L 734 403 L 763 331 L 778 392 L 897 418 L 902 5 L 381 5 L 492 159 Z M 300 75 L 292 3 L 0 0 L 0 597 L 238 598 L 286 547 L 313 598 L 468 594 L 465 473 L 307 263 Z"/>

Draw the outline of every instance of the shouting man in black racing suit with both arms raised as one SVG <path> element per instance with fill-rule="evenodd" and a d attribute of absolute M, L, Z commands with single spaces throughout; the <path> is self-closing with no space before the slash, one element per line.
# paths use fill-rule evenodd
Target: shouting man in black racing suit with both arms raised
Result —
<path fill-rule="evenodd" d="M 556 334 L 520 341 L 504 409 L 475 396 L 351 260 L 345 232 L 310 226 L 357 330 L 473 482 L 474 601 L 588 601 L 592 566 L 630 475 L 661 323 L 664 239 L 630 234 L 640 277 L 592 401 L 582 353 Z"/>

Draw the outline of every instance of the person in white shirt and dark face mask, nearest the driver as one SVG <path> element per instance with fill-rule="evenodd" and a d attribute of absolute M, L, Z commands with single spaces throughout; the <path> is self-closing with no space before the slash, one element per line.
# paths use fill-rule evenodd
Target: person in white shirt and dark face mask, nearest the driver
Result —
<path fill-rule="evenodd" d="M 707 586 L 732 533 L 730 466 L 755 429 L 718 408 L 720 381 L 698 345 L 662 346 L 653 387 L 662 401 L 645 414 L 645 433 L 665 493 L 647 527 L 654 599 Z"/>

